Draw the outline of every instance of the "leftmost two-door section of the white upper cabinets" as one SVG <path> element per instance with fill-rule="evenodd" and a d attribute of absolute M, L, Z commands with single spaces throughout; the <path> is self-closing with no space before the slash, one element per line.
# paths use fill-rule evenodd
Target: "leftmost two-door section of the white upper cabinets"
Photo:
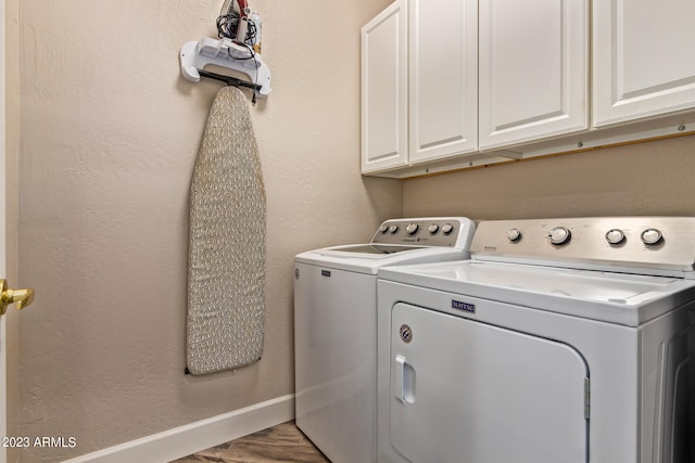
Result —
<path fill-rule="evenodd" d="M 478 151 L 478 2 L 396 0 L 362 29 L 362 171 Z"/>

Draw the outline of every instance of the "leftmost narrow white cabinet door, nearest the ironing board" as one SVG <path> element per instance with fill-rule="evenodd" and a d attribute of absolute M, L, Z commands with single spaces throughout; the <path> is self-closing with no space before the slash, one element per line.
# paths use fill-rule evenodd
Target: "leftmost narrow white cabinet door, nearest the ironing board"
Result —
<path fill-rule="evenodd" d="M 407 164 L 407 15 L 396 0 L 362 28 L 362 171 Z"/>

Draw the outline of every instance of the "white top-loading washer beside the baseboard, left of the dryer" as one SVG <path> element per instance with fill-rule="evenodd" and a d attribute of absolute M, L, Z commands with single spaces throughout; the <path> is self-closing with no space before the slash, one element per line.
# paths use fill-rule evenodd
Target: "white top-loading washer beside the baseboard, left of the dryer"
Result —
<path fill-rule="evenodd" d="M 369 243 L 296 256 L 296 425 L 333 463 L 377 455 L 377 271 L 468 257 L 475 223 L 460 217 L 383 222 Z"/>

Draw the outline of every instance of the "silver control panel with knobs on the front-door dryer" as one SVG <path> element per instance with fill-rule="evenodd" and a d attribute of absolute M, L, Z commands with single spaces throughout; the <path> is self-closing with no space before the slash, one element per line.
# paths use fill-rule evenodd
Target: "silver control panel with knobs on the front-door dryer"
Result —
<path fill-rule="evenodd" d="M 568 268 L 633 267 L 695 273 L 695 217 L 490 220 L 478 224 L 473 259 L 543 261 Z M 668 271 L 664 274 L 672 274 Z"/>

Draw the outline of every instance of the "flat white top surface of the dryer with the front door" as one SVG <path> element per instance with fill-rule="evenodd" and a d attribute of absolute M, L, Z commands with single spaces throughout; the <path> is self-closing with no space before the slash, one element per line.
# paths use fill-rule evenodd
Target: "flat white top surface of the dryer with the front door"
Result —
<path fill-rule="evenodd" d="M 683 279 L 493 261 L 404 266 L 379 278 L 629 326 L 695 300 L 695 282 Z"/>

